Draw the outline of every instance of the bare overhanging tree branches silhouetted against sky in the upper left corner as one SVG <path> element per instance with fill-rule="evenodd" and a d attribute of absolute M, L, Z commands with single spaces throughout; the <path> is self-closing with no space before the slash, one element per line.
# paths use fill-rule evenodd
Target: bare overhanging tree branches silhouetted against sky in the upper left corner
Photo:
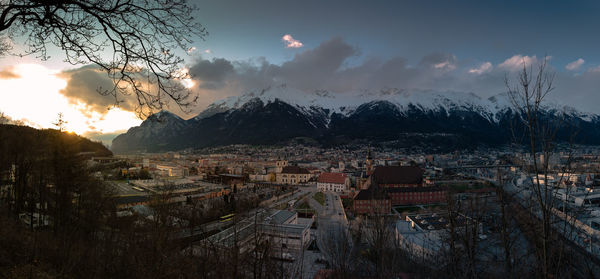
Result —
<path fill-rule="evenodd" d="M 48 59 L 56 46 L 65 62 L 93 64 L 114 81 L 98 88 L 115 104 L 132 95 L 147 116 L 170 100 L 185 109 L 195 97 L 177 80 L 188 78 L 177 52 L 190 49 L 206 29 L 186 0 L 0 1 L 0 54 Z M 13 53 L 12 44 L 24 45 Z"/>

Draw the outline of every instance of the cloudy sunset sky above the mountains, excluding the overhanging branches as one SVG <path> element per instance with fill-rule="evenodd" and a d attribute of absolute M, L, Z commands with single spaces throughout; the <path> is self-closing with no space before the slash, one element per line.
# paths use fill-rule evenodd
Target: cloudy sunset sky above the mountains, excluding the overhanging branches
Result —
<path fill-rule="evenodd" d="M 598 1 L 192 1 L 209 35 L 184 53 L 186 81 L 210 103 L 287 84 L 337 94 L 383 88 L 505 91 L 504 77 L 547 57 L 552 98 L 600 112 Z M 139 125 L 135 103 L 113 108 L 97 89 L 110 84 L 85 65 L 0 59 L 0 111 L 34 127 L 66 128 L 107 143 Z"/>

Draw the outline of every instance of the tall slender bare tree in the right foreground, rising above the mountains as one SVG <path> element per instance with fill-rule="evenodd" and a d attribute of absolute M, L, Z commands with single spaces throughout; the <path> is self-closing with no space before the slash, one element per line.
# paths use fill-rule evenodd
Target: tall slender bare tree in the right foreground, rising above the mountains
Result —
<path fill-rule="evenodd" d="M 564 130 L 565 124 L 570 123 L 563 123 L 561 115 L 557 115 L 558 120 L 548 116 L 544 107 L 546 97 L 554 90 L 555 77 L 554 73 L 548 71 L 547 61 L 545 57 L 535 70 L 533 65 L 526 65 L 523 61 L 518 82 L 511 85 L 508 78 L 505 79 L 508 95 L 516 111 L 517 125 L 522 128 L 523 138 L 527 141 L 527 150 L 531 155 L 529 172 L 533 174 L 533 179 L 526 189 L 531 193 L 532 204 L 529 216 L 526 216 L 531 222 L 521 220 L 521 224 L 526 225 L 524 233 L 533 240 L 536 247 L 538 271 L 544 278 L 569 276 L 578 269 L 575 267 L 578 263 L 574 259 L 580 256 L 579 252 L 572 248 L 573 244 L 568 243 L 573 239 L 572 234 L 576 232 L 575 226 L 572 225 L 575 217 L 566 212 L 565 204 L 568 203 L 570 195 L 568 185 L 565 185 L 563 195 L 566 198 L 563 205 L 557 201 L 557 197 L 560 196 L 558 189 L 569 179 L 568 173 L 573 171 L 573 147 L 570 147 L 565 165 L 557 168 L 550 163 L 552 156 L 558 152 L 557 134 L 561 129 Z M 570 134 L 570 140 L 573 141 L 576 133 L 570 131 Z M 549 183 L 553 174 L 557 174 L 556 185 Z M 570 256 L 566 257 L 566 254 Z"/>

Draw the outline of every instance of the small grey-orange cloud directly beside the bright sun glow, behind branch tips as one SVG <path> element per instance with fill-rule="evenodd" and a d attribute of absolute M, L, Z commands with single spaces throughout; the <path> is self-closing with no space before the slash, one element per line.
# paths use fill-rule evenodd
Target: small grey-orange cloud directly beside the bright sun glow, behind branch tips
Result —
<path fill-rule="evenodd" d="M 114 96 L 105 96 L 99 93 L 102 90 L 110 90 L 114 82 L 106 72 L 96 66 L 84 66 L 81 68 L 64 71 L 61 77 L 67 80 L 67 86 L 60 91 L 71 103 L 81 102 L 87 107 L 85 111 L 96 111 L 105 114 L 107 109 L 115 105 Z M 132 96 L 119 96 L 119 107 L 123 110 L 133 111 L 136 101 Z"/>

